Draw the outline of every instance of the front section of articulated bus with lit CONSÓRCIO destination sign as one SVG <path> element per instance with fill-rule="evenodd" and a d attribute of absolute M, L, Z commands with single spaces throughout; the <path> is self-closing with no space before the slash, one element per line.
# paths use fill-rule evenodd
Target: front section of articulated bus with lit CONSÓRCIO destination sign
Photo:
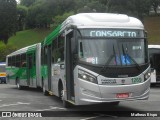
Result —
<path fill-rule="evenodd" d="M 144 26 L 123 14 L 68 17 L 41 44 L 44 94 L 88 105 L 145 100 L 150 64 Z"/>

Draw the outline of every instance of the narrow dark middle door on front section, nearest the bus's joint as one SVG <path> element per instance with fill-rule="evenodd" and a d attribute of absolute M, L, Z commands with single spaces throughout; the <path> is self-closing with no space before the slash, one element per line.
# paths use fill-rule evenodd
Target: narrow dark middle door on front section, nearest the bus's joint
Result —
<path fill-rule="evenodd" d="M 51 90 L 51 45 L 48 46 L 47 50 L 47 66 L 48 66 L 48 90 Z"/>

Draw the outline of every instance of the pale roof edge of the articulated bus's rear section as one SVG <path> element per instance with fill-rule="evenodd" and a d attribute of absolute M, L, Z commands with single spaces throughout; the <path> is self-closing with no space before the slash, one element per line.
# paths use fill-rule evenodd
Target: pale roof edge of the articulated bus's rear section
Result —
<path fill-rule="evenodd" d="M 37 44 L 40 44 L 40 43 L 37 43 Z M 7 55 L 7 57 L 10 57 L 10 56 L 14 56 L 14 55 L 18 55 L 18 54 L 23 54 L 23 53 L 26 53 L 26 52 L 30 52 L 30 51 L 33 51 L 36 49 L 36 45 L 37 44 L 34 44 L 34 45 L 30 45 L 30 46 L 27 46 L 27 47 L 24 47 L 24 48 L 21 48 L 9 55 Z"/>

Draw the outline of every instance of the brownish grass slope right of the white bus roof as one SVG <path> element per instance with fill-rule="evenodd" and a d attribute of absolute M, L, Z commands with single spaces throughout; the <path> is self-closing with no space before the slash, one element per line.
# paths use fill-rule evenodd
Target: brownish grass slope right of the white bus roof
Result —
<path fill-rule="evenodd" d="M 160 44 L 160 16 L 146 17 L 144 26 L 148 33 L 149 44 Z"/>

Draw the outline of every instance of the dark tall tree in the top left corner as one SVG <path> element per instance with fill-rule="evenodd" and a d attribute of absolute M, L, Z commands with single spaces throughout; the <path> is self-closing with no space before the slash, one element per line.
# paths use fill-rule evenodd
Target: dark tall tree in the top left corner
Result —
<path fill-rule="evenodd" d="M 0 0 L 0 40 L 5 44 L 16 33 L 16 0 Z"/>

